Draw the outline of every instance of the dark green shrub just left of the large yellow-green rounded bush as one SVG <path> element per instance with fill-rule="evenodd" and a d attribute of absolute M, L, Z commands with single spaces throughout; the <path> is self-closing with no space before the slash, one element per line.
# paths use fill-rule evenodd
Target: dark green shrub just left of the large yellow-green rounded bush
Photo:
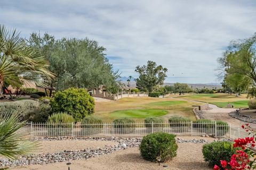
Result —
<path fill-rule="evenodd" d="M 34 111 L 28 112 L 25 116 L 27 121 L 32 122 L 45 122 L 50 116 L 51 106 L 41 103 Z"/>

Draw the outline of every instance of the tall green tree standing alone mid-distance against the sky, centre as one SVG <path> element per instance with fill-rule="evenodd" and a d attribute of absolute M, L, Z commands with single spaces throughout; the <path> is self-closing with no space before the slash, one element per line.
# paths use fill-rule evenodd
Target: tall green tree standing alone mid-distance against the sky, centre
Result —
<path fill-rule="evenodd" d="M 154 88 L 159 90 L 167 77 L 167 69 L 153 61 L 148 61 L 147 65 L 138 65 L 135 72 L 139 73 L 139 78 L 136 79 L 136 86 L 141 90 L 146 89 L 149 92 L 154 91 Z"/>

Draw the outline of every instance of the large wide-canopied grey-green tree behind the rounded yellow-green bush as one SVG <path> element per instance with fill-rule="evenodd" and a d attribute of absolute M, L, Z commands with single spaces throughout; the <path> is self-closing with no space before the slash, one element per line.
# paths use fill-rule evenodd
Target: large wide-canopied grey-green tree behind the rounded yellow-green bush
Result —
<path fill-rule="evenodd" d="M 105 57 L 106 49 L 95 40 L 67 39 L 55 40 L 45 33 L 32 33 L 28 44 L 37 47 L 49 61 L 49 69 L 56 74 L 54 81 L 48 82 L 48 89 L 64 90 L 69 87 L 94 89 L 105 87 L 108 92 L 122 87 L 118 81 L 118 71 Z"/>

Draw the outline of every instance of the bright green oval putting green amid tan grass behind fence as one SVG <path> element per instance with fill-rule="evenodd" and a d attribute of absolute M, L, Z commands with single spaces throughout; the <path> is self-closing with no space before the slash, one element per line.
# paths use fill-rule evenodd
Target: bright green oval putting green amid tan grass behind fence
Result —
<path fill-rule="evenodd" d="M 166 115 L 168 111 L 161 109 L 130 109 L 122 111 L 114 111 L 110 114 L 111 117 L 130 117 L 130 118 L 147 118 Z"/>

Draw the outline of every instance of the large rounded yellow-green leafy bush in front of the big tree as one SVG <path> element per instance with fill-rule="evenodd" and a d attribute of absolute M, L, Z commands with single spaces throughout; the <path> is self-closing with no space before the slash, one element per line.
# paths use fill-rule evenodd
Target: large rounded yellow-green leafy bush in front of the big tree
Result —
<path fill-rule="evenodd" d="M 50 104 L 53 112 L 67 112 L 76 122 L 94 113 L 94 99 L 85 89 L 57 91 Z"/>

